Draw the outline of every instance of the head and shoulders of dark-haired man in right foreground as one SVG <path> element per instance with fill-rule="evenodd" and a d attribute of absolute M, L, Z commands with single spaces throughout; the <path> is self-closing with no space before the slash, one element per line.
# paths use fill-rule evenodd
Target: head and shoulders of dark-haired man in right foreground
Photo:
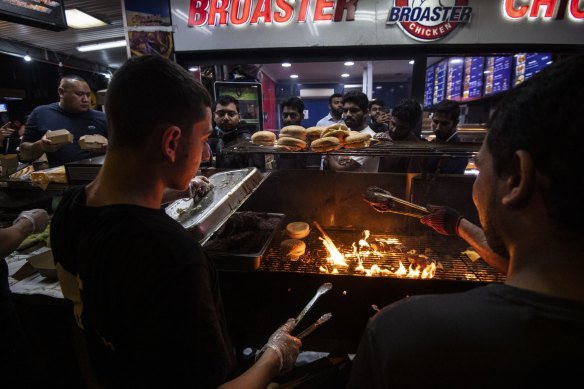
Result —
<path fill-rule="evenodd" d="M 579 382 L 584 209 L 574 204 L 584 197 L 575 185 L 584 180 L 584 144 L 574 139 L 584 128 L 582 85 L 584 56 L 565 58 L 510 90 L 491 117 L 473 200 L 489 246 L 509 256 L 504 284 L 383 308 L 367 325 L 349 388 Z M 431 373 L 421 374 L 424 363 Z"/>

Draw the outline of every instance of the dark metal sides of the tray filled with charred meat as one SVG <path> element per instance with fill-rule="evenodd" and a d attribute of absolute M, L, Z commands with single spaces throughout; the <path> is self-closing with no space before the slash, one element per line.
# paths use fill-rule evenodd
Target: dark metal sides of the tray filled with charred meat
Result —
<path fill-rule="evenodd" d="M 232 253 L 232 252 L 221 252 L 213 250 L 205 250 L 209 257 L 215 263 L 215 267 L 219 270 L 237 270 L 237 271 L 255 271 L 257 270 L 262 262 L 262 258 L 268 247 L 272 244 L 276 233 L 282 229 L 282 222 L 286 217 L 283 213 L 263 213 L 268 218 L 279 218 L 280 221 L 276 228 L 272 230 L 272 233 L 268 236 L 262 248 L 257 253 Z M 205 247 L 205 246 L 203 246 Z"/>

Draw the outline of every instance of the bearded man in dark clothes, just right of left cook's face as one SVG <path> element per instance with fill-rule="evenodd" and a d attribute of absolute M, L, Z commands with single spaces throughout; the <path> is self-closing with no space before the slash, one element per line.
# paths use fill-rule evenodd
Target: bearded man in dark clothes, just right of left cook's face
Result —
<path fill-rule="evenodd" d="M 254 166 L 254 160 L 248 154 L 226 153 L 224 149 L 251 139 L 253 128 L 241 122 L 239 101 L 233 96 L 220 96 L 213 104 L 215 132 L 210 138 L 211 148 L 214 146 L 215 166 L 221 169 L 243 169 Z M 263 169 L 261 163 L 256 164 Z"/>

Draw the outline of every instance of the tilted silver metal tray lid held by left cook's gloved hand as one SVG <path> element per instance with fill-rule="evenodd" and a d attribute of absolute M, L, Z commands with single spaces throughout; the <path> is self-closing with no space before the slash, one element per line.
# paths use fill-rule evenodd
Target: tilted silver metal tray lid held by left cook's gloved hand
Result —
<path fill-rule="evenodd" d="M 191 198 L 176 200 L 165 208 L 166 214 L 205 244 L 269 174 L 257 168 L 215 173 L 209 177 L 214 188 L 205 197 L 196 203 Z"/>

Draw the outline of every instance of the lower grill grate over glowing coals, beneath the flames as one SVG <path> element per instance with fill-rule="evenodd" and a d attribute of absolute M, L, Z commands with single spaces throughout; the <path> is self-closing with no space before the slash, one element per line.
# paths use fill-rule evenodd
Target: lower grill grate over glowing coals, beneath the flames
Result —
<path fill-rule="evenodd" d="M 351 229 L 327 229 L 325 231 L 334 242 L 335 246 L 343 254 L 352 253 L 353 242 L 358 242 L 364 237 L 362 231 Z M 306 252 L 297 261 L 291 261 L 280 252 L 280 242 L 288 239 L 284 230 L 279 231 L 272 244 L 264 254 L 258 271 L 266 272 L 293 272 L 330 274 L 333 268 L 338 269 L 340 275 L 366 276 L 363 271 L 356 269 L 358 259 L 355 256 L 347 256 L 348 267 L 332 266 L 327 262 L 328 251 L 319 239 L 319 232 L 312 229 L 309 236 L 304 239 Z M 397 244 L 380 243 L 380 239 L 397 238 Z M 502 282 L 505 276 L 499 274 L 482 260 L 472 262 L 465 254 L 462 254 L 468 246 L 462 239 L 428 233 L 424 235 L 397 235 L 390 233 L 372 233 L 367 239 L 368 243 L 375 243 L 379 248 L 384 247 L 382 255 L 364 256 L 363 267 L 371 269 L 378 265 L 381 269 L 390 270 L 375 274 L 374 276 L 404 278 L 393 274 L 399 268 L 399 261 L 406 269 L 410 265 L 410 259 L 427 257 L 436 262 L 437 269 L 434 279 L 457 280 L 471 282 Z M 422 255 L 422 256 L 420 256 Z M 323 271 L 326 268 L 328 272 Z"/>

